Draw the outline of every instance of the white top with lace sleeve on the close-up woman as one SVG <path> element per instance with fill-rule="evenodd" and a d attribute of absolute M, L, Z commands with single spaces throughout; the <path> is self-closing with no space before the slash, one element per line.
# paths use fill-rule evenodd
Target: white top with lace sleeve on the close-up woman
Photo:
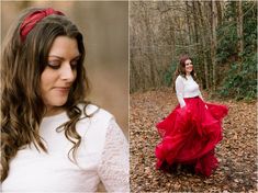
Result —
<path fill-rule="evenodd" d="M 97 109 L 88 105 L 87 113 Z M 19 150 L 2 183 L 3 193 L 96 192 L 100 181 L 108 192 L 130 192 L 128 144 L 114 117 L 100 109 L 77 123 L 82 139 L 78 166 L 67 157 L 72 144 L 64 132 L 56 132 L 66 121 L 65 112 L 43 120 L 40 133 L 48 154 L 38 152 L 33 145 Z"/>

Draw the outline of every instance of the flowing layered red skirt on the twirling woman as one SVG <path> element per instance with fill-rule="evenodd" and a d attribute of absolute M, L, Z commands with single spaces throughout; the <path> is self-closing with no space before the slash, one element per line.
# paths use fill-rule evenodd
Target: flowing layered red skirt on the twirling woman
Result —
<path fill-rule="evenodd" d="M 218 166 L 214 148 L 222 140 L 222 120 L 228 109 L 204 103 L 199 96 L 184 101 L 184 107 L 178 105 L 156 125 L 162 138 L 155 149 L 156 167 L 191 164 L 195 173 L 209 177 Z"/>

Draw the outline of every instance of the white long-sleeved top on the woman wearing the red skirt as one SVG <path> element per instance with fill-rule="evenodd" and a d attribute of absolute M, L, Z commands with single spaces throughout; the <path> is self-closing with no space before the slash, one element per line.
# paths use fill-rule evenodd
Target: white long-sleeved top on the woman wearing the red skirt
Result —
<path fill-rule="evenodd" d="M 203 100 L 199 84 L 193 80 L 192 76 L 186 76 L 186 78 L 178 76 L 176 79 L 176 92 L 181 107 L 186 105 L 183 98 L 194 98 L 199 95 Z"/>

